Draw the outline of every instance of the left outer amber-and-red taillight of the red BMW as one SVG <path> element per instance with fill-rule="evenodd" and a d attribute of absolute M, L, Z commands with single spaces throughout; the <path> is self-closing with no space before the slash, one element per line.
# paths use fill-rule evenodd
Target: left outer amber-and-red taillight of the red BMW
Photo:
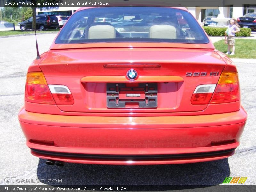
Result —
<path fill-rule="evenodd" d="M 25 100 L 33 103 L 55 104 L 42 72 L 27 74 Z"/>

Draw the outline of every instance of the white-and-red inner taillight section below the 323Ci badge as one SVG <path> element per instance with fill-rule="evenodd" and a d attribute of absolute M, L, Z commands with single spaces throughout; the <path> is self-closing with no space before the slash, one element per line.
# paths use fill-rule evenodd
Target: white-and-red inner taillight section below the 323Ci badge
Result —
<path fill-rule="evenodd" d="M 216 84 L 204 84 L 204 85 L 197 86 L 192 95 L 191 104 L 193 105 L 208 104 L 212 98 L 212 93 L 214 92 L 215 87 L 216 87 Z"/>

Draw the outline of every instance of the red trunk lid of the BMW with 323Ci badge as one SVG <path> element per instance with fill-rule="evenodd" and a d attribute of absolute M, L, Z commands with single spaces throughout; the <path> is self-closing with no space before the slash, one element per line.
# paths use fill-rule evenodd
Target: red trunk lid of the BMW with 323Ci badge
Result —
<path fill-rule="evenodd" d="M 193 92 L 198 85 L 217 84 L 225 65 L 213 50 L 184 48 L 51 50 L 39 64 L 48 84 L 65 85 L 72 93 L 74 104 L 58 105 L 60 110 L 108 113 L 204 110 L 207 104 L 191 104 Z M 135 80 L 127 78 L 131 69 Z"/>

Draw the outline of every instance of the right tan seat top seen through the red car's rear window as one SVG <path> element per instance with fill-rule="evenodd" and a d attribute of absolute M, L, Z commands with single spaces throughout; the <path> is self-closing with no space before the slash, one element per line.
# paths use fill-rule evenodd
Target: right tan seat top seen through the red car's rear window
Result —
<path fill-rule="evenodd" d="M 176 28 L 172 25 L 153 25 L 149 28 L 149 38 L 176 39 Z"/>

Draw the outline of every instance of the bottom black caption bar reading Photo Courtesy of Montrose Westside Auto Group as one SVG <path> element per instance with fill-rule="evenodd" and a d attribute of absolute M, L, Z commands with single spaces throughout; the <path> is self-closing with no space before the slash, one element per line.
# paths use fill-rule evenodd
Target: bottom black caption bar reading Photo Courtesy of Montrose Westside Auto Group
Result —
<path fill-rule="evenodd" d="M 232 192 L 250 192 L 256 191 L 256 186 L 248 185 L 217 185 L 217 186 L 197 186 L 197 185 L 173 185 L 173 186 L 159 186 L 159 185 L 87 185 L 87 186 L 48 186 L 48 185 L 24 185 L 24 186 L 0 186 L 0 191 L 5 192 L 70 192 L 70 191 L 171 191 L 179 190 L 180 191 L 195 191 L 195 192 L 221 192 L 221 191 L 232 191 Z"/>

